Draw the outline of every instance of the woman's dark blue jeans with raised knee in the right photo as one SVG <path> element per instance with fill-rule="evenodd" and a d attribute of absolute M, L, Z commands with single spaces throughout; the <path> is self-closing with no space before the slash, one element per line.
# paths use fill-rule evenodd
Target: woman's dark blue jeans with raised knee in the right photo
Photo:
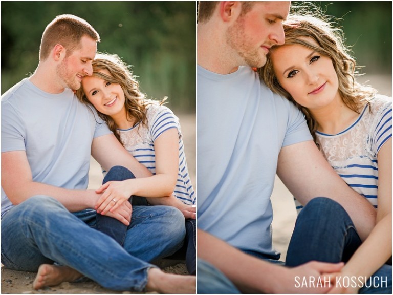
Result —
<path fill-rule="evenodd" d="M 297 266 L 312 260 L 347 262 L 360 244 L 361 240 L 345 209 L 331 199 L 315 198 L 299 213 L 286 265 Z M 386 284 L 363 287 L 359 293 L 391 294 L 391 265 L 383 265 L 374 273 L 374 278 L 376 282 L 383 279 Z"/>

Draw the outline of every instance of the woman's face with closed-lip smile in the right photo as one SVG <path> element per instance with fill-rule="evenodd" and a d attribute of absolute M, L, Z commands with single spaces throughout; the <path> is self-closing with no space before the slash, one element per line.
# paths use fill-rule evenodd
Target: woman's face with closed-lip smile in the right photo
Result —
<path fill-rule="evenodd" d="M 317 46 L 314 39 L 305 39 Z M 278 82 L 301 106 L 318 110 L 340 99 L 338 77 L 329 57 L 297 44 L 281 46 L 270 57 Z"/>

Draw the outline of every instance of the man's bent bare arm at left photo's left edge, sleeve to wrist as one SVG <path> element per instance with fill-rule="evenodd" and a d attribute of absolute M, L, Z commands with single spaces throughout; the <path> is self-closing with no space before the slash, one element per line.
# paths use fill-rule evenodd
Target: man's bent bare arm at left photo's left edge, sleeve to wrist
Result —
<path fill-rule="evenodd" d="M 51 196 L 72 212 L 94 207 L 94 191 L 65 189 L 34 182 L 25 151 L 2 153 L 2 187 L 14 205 L 35 195 Z"/>

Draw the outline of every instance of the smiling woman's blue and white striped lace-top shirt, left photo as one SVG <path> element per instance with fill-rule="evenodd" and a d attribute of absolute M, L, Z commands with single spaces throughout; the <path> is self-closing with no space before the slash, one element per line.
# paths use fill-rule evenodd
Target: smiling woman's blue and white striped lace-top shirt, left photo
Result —
<path fill-rule="evenodd" d="M 176 128 L 179 133 L 179 172 L 174 195 L 185 204 L 195 204 L 196 195 L 188 174 L 179 118 L 169 108 L 157 103 L 147 106 L 146 117 L 147 128 L 144 124 L 138 123 L 133 128 L 118 130 L 125 149 L 155 175 L 155 141 L 168 129 Z"/>

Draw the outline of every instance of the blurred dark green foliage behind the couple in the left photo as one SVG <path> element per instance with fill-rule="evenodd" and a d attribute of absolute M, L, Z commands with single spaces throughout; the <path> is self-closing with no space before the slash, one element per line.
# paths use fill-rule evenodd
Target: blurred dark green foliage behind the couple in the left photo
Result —
<path fill-rule="evenodd" d="M 2 94 L 38 65 L 41 35 L 60 14 L 87 20 L 98 51 L 133 65 L 148 97 L 168 96 L 173 111 L 195 111 L 197 4 L 185 2 L 1 2 Z"/>

